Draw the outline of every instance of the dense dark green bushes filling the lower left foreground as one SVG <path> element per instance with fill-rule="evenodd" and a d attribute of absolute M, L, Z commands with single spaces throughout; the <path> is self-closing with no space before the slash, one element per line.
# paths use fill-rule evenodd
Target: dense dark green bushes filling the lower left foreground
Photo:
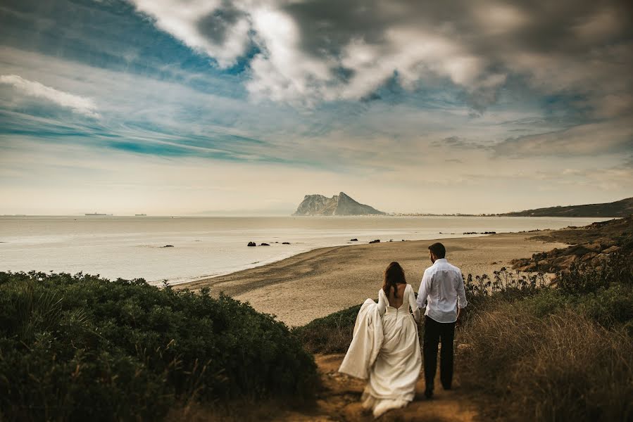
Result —
<path fill-rule="evenodd" d="M 156 419 L 187 399 L 306 397 L 315 380 L 284 324 L 226 296 L 0 273 L 1 419 Z"/>

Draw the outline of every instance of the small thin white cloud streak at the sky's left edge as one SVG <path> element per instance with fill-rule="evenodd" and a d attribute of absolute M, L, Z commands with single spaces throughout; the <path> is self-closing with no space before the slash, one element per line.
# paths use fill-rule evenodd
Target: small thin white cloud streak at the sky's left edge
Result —
<path fill-rule="evenodd" d="M 35 98 L 43 98 L 58 106 L 70 108 L 74 113 L 79 113 L 87 117 L 98 118 L 96 113 L 96 105 L 90 98 L 84 98 L 68 92 L 58 91 L 57 89 L 46 87 L 39 82 L 30 81 L 18 75 L 0 75 L 0 84 L 13 86 L 25 96 Z"/>

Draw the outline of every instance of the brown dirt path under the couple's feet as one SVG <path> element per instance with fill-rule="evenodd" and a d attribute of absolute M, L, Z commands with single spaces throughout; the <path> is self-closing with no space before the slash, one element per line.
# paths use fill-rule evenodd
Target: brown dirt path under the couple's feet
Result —
<path fill-rule="evenodd" d="M 323 388 L 318 394 L 317 406 L 309 411 L 284 411 L 275 422 L 315 421 L 315 422 L 369 422 L 374 421 L 371 412 L 363 411 L 361 393 L 365 382 L 338 372 L 344 354 L 317 354 L 315 359 Z M 439 382 L 439 373 L 435 381 Z M 378 421 L 418 421 L 418 422 L 470 422 L 475 421 L 477 407 L 460 388 L 459 378 L 453 381 L 453 390 L 437 388 L 435 397 L 424 397 L 424 378 L 415 386 L 415 399 L 407 407 L 387 412 Z"/>

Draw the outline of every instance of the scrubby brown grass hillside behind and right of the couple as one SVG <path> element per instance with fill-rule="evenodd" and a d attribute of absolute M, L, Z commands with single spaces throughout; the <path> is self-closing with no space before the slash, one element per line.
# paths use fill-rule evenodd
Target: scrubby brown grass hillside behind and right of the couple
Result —
<path fill-rule="evenodd" d="M 556 283 L 507 269 L 465 279 L 470 311 L 456 334 L 456 374 L 484 420 L 633 421 L 633 260 L 627 236 L 611 236 L 618 221 L 566 232 L 615 238 L 618 248 L 570 264 Z M 356 312 L 294 332 L 312 352 L 345 352 Z"/>

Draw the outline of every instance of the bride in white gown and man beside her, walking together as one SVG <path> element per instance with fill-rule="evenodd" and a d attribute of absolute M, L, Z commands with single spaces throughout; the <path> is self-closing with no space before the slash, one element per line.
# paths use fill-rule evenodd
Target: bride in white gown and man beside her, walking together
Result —
<path fill-rule="evenodd" d="M 339 371 L 367 379 L 361 400 L 377 418 L 405 407 L 415 396 L 422 356 L 418 340 L 420 310 L 424 311 L 425 396 L 432 399 L 441 343 L 440 380 L 444 390 L 453 380 L 453 337 L 468 305 L 460 269 L 446 261 L 441 243 L 429 246 L 433 263 L 422 276 L 415 298 L 398 262 L 384 271 L 378 303 L 365 300 L 356 317 L 353 338 Z"/>

